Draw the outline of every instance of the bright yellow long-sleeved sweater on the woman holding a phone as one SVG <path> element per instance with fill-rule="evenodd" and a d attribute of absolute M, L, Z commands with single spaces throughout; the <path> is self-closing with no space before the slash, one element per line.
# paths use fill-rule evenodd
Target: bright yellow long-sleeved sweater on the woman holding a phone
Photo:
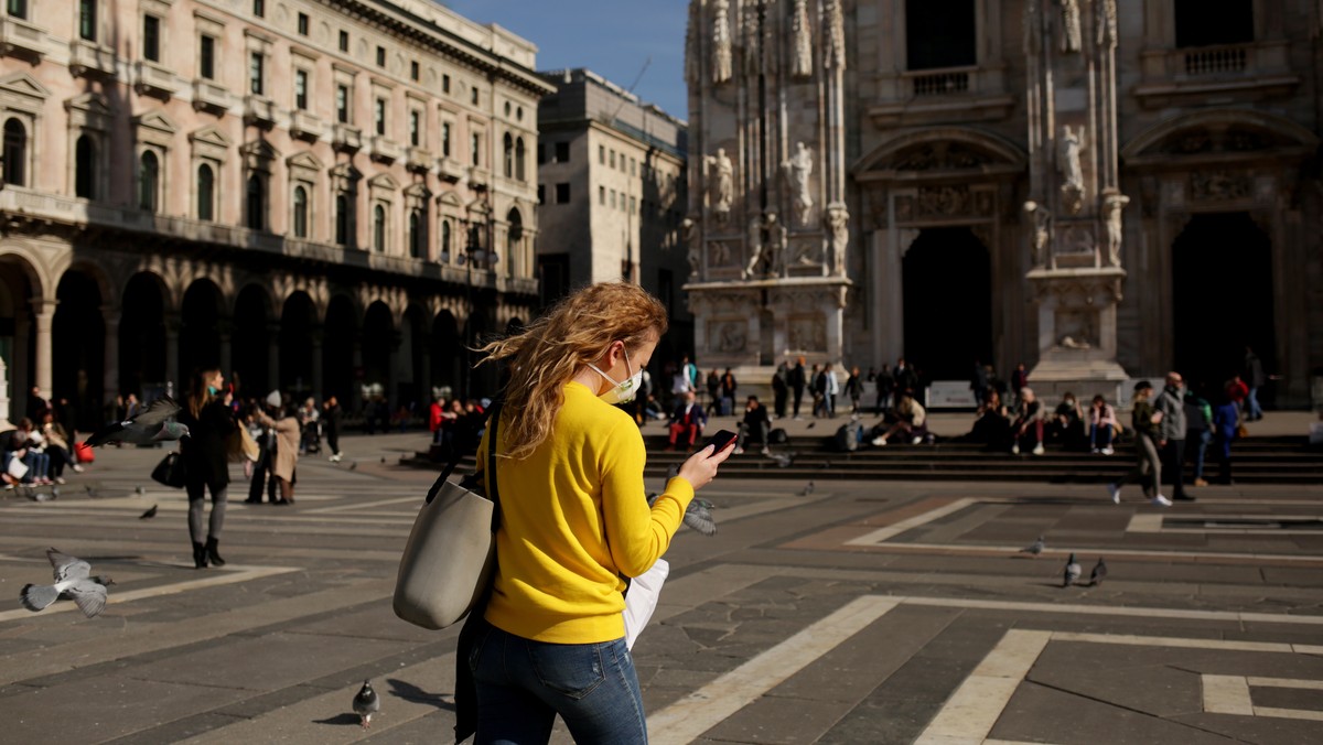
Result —
<path fill-rule="evenodd" d="M 486 618 L 538 642 L 609 642 L 624 635 L 619 574 L 638 577 L 665 553 L 693 487 L 671 479 L 648 508 L 638 425 L 582 384 L 564 392 L 550 437 L 523 460 L 497 459 L 501 520 Z M 497 453 L 505 431 L 503 422 Z M 480 468 L 486 460 L 484 437 Z"/>

